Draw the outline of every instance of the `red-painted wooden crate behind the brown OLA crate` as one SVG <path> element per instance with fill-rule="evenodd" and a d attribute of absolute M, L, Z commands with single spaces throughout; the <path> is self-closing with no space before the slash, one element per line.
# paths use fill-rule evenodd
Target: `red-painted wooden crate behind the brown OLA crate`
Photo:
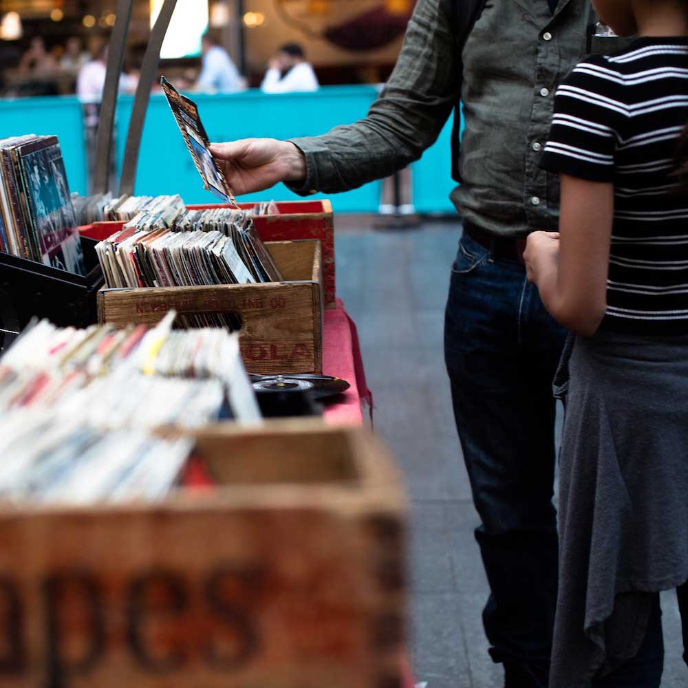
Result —
<path fill-rule="evenodd" d="M 255 203 L 239 203 L 248 210 Z M 217 205 L 193 205 L 191 209 L 217 208 Z M 226 206 L 228 207 L 228 206 Z M 277 202 L 279 215 L 253 218 L 263 241 L 318 239 L 323 250 L 323 293 L 325 308 L 336 308 L 336 275 L 334 264 L 334 215 L 332 204 L 324 201 Z"/>

